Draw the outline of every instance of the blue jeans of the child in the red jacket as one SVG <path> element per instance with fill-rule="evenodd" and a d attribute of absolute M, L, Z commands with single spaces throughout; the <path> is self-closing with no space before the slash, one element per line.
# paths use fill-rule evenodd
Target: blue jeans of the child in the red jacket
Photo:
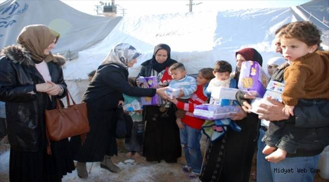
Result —
<path fill-rule="evenodd" d="M 180 143 L 184 151 L 187 166 L 192 168 L 192 172 L 199 174 L 202 165 L 200 149 L 201 131 L 187 125 L 179 128 Z"/>

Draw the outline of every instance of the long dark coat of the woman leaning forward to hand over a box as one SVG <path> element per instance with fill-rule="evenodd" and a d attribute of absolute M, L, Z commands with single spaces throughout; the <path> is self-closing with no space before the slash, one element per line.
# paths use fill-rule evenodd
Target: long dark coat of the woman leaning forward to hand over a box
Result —
<path fill-rule="evenodd" d="M 101 65 L 82 102 L 87 103 L 90 132 L 81 146 L 80 136 L 71 138 L 73 159 L 79 162 L 98 162 L 104 155 L 117 154 L 115 141 L 116 113 L 123 93 L 131 96 L 154 96 L 156 89 L 132 87 L 128 84 L 128 70 L 118 65 Z"/>

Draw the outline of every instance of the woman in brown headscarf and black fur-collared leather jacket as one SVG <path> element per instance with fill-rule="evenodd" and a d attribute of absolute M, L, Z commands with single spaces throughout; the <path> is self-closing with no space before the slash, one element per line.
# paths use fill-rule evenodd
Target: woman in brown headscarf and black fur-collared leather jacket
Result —
<path fill-rule="evenodd" d="M 45 25 L 29 25 L 17 45 L 1 51 L 0 100 L 6 102 L 10 182 L 60 182 L 74 170 L 68 139 L 50 141 L 47 154 L 44 110 L 56 108 L 56 97 L 66 92 L 65 58 L 50 52 L 58 38 Z"/>

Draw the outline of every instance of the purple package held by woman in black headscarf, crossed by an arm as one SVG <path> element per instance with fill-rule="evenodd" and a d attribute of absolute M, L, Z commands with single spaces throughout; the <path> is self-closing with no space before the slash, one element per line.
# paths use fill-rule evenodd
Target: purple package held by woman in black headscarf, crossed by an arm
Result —
<path fill-rule="evenodd" d="M 142 88 L 156 88 L 158 86 L 158 78 L 156 76 L 140 77 L 138 81 L 140 82 L 139 87 Z M 158 94 L 155 94 L 153 97 L 142 96 L 141 103 L 142 105 L 159 105 L 160 96 Z"/>

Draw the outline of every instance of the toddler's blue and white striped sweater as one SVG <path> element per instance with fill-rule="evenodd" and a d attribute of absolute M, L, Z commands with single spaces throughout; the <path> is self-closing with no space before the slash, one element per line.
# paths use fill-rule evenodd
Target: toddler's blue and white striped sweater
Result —
<path fill-rule="evenodd" d="M 168 87 L 173 89 L 183 89 L 184 96 L 180 97 L 183 99 L 190 98 L 197 89 L 196 80 L 187 75 L 180 80 L 171 80 Z"/>

